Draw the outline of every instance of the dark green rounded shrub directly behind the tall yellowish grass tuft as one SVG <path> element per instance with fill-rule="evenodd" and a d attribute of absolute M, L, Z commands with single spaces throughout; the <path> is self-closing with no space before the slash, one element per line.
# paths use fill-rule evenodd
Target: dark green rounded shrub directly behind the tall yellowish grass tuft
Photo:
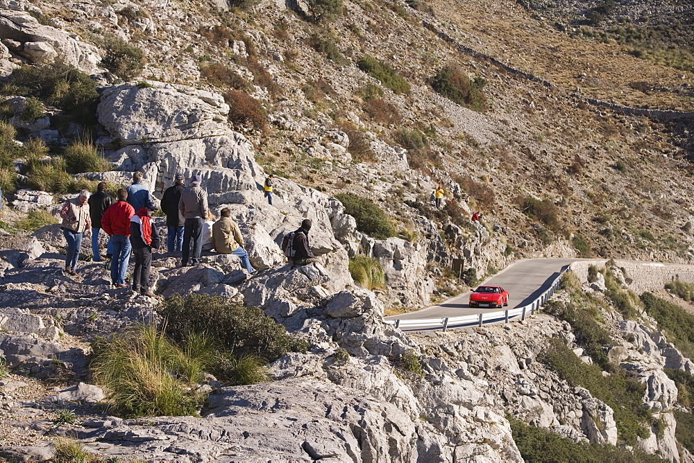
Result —
<path fill-rule="evenodd" d="M 217 295 L 176 295 L 167 299 L 159 311 L 167 319 L 167 333 L 174 340 L 205 333 L 237 357 L 253 353 L 273 362 L 289 351 L 308 348 L 305 341 L 293 338 L 260 308 L 246 307 Z"/>

